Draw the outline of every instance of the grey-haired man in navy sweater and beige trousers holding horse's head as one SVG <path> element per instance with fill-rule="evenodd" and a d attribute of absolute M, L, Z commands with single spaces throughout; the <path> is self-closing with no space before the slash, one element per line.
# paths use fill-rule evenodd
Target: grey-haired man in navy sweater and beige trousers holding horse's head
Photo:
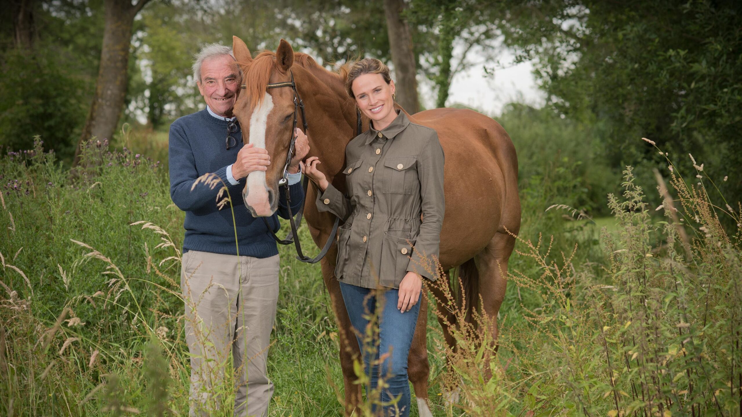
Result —
<path fill-rule="evenodd" d="M 246 210 L 241 188 L 250 172 L 266 171 L 271 161 L 265 149 L 243 145 L 232 115 L 240 88 L 232 48 L 206 45 L 195 56 L 193 71 L 206 109 L 177 119 L 169 143 L 170 195 L 185 211 L 180 282 L 191 352 L 190 415 L 208 416 L 220 407 L 232 351 L 234 416 L 267 416 L 273 384 L 266 358 L 278 301 L 278 249 L 263 219 Z M 298 167 L 309 151 L 306 136 L 296 134 L 288 181 L 293 211 L 303 204 Z M 213 189 L 197 184 L 191 190 L 207 173 L 221 182 Z M 229 204 L 217 207 L 222 183 L 232 198 L 234 222 Z M 288 217 L 283 192 L 278 213 Z M 269 223 L 278 229 L 276 214 Z"/>

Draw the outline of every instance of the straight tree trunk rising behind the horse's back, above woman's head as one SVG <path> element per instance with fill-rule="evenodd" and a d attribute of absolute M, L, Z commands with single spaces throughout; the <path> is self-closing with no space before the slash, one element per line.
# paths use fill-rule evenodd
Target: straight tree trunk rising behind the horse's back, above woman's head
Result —
<path fill-rule="evenodd" d="M 384 0 L 384 15 L 387 16 L 389 46 L 392 50 L 392 62 L 397 74 L 397 102 L 407 111 L 415 114 L 419 111 L 417 95 L 416 56 L 413 52 L 413 38 L 410 25 L 402 17 L 407 6 L 404 0 Z"/>

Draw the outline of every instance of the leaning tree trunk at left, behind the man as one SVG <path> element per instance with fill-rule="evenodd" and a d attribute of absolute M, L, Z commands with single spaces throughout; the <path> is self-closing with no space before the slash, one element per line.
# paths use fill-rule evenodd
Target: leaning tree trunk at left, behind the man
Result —
<path fill-rule="evenodd" d="M 82 143 L 91 137 L 111 139 L 119 123 L 126 98 L 128 83 L 129 47 L 134 17 L 149 0 L 105 0 L 105 28 L 100 53 L 98 80 L 91 111 L 82 129 L 82 136 L 75 151 L 75 162 L 80 162 Z"/>

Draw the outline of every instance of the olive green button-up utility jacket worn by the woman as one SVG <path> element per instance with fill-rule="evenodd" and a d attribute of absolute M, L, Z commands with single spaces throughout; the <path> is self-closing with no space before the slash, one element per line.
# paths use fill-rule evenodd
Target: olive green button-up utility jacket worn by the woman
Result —
<path fill-rule="evenodd" d="M 443 148 L 431 128 L 400 112 L 345 148 L 347 196 L 330 184 L 319 211 L 344 220 L 335 276 L 364 288 L 399 288 L 408 271 L 436 280 L 445 199 Z"/>

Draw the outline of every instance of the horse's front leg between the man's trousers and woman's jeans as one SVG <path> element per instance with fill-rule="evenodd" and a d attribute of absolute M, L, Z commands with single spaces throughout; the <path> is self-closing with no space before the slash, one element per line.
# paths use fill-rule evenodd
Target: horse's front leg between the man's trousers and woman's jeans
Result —
<path fill-rule="evenodd" d="M 332 312 L 335 312 L 335 320 L 338 321 L 338 332 L 340 333 L 340 367 L 343 370 L 343 385 L 345 387 L 345 415 L 351 416 L 361 403 L 361 385 L 353 382 L 358 379 L 353 370 L 353 359 L 360 360 L 361 349 L 358 349 L 358 341 L 350 325 L 350 318 L 345 309 L 343 295 L 340 292 L 340 283 L 335 278 L 335 257 L 337 257 L 338 246 L 333 244 L 327 255 L 320 261 L 322 266 L 322 277 L 329 292 L 332 302 Z"/>

